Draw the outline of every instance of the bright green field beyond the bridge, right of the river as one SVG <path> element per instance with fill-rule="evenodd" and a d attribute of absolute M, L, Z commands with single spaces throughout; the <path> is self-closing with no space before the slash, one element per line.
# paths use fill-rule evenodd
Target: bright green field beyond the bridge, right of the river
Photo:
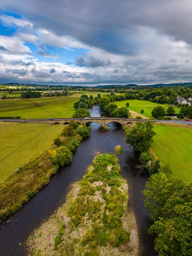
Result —
<path fill-rule="evenodd" d="M 146 116 L 147 118 L 153 119 L 151 115 L 151 111 L 156 106 L 163 106 L 165 109 L 168 109 L 168 105 L 162 105 L 150 101 L 139 101 L 138 99 L 126 99 L 126 101 L 117 101 L 115 102 L 117 106 L 123 107 L 125 104 L 129 102 L 129 109 L 137 112 L 138 114 L 141 114 L 141 110 L 144 110 L 144 113 L 142 115 Z M 178 107 L 175 107 L 176 113 L 180 112 L 180 109 Z"/>

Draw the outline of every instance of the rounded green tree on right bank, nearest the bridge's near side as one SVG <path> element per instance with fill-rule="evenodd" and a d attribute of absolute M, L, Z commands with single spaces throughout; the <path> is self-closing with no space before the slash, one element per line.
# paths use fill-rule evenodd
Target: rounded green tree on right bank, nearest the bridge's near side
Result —
<path fill-rule="evenodd" d="M 136 151 L 148 150 L 153 141 L 152 136 L 156 134 L 152 129 L 152 122 L 137 122 L 132 129 L 128 130 L 126 143 L 133 146 Z"/>

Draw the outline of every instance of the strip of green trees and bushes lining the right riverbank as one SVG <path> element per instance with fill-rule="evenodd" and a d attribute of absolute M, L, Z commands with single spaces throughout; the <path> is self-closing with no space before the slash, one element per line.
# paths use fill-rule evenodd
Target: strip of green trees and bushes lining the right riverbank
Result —
<path fill-rule="evenodd" d="M 140 153 L 141 170 L 149 176 L 143 190 L 145 207 L 154 220 L 149 233 L 156 235 L 155 250 L 159 256 L 189 256 L 192 254 L 192 184 L 185 186 L 173 176 L 169 166 L 160 166 L 159 160 L 153 159 L 149 153 L 155 135 L 152 129 L 150 122 L 125 127 L 126 142 Z"/>

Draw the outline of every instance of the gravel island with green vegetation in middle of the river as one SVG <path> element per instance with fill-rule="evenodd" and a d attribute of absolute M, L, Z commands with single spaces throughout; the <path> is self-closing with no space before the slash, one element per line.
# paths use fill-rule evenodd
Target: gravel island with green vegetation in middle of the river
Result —
<path fill-rule="evenodd" d="M 95 157 L 83 179 L 72 185 L 66 204 L 29 237 L 30 255 L 138 255 L 127 190 L 117 157 Z"/>

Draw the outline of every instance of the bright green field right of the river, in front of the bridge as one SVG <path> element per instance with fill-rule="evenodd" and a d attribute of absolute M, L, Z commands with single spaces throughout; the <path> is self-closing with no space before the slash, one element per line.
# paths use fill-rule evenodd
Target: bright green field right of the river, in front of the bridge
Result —
<path fill-rule="evenodd" d="M 173 175 L 184 181 L 192 182 L 192 129 L 154 125 L 152 151 L 160 163 L 169 164 Z"/>

